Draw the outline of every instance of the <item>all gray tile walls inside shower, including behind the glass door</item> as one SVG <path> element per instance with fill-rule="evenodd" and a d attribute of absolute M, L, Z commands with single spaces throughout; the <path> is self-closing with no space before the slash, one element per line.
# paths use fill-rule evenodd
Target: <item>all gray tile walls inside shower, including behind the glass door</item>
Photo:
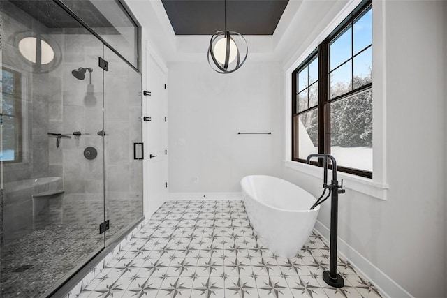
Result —
<path fill-rule="evenodd" d="M 42 221 L 36 216 L 33 220 L 32 191 L 21 194 L 23 200 L 16 204 L 8 204 L 9 216 L 2 220 L 15 231 L 31 229 L 33 221 L 89 221 L 98 225 L 103 221 L 104 209 L 111 221 L 124 219 L 131 223 L 140 218 L 142 162 L 133 159 L 133 142 L 141 142 L 140 75 L 108 49 L 105 57 L 103 44 L 85 29 L 47 29 L 37 20 L 24 17 L 8 1 L 4 5 L 8 6 L 8 13 L 3 14 L 3 64 L 22 70 L 26 86 L 22 98 L 24 160 L 4 165 L 4 181 L 62 177 L 65 193 L 56 199 L 57 203 L 54 198 L 42 200 Z M 17 50 L 17 33 L 31 30 L 47 34 L 61 49 L 61 64 L 48 73 L 32 73 Z M 109 61 L 109 72 L 103 73 L 98 67 L 98 57 Z M 71 74 L 80 67 L 93 68 L 91 84 L 88 71 L 85 80 Z M 106 137 L 97 134 L 103 128 Z M 80 131 L 81 137 L 75 139 L 75 131 Z M 57 138 L 49 137 L 48 132 L 72 138 L 61 139 L 57 147 Z M 84 158 L 86 147 L 97 149 L 94 160 Z"/>

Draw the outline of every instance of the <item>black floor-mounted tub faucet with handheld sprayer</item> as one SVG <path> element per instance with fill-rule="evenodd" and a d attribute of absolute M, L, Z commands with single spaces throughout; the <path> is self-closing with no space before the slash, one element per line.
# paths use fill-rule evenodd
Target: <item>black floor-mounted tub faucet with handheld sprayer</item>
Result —
<path fill-rule="evenodd" d="M 307 156 L 306 163 L 310 163 L 311 158 L 323 158 L 323 194 L 316 200 L 315 204 L 310 208 L 314 209 L 319 204 L 323 203 L 331 195 L 330 200 L 330 257 L 329 257 L 329 271 L 323 272 L 323 280 L 328 285 L 335 288 L 342 288 L 344 286 L 343 277 L 337 274 L 337 222 L 338 222 L 338 195 L 344 193 L 343 179 L 342 185 L 338 185 L 337 180 L 337 161 L 334 156 L 330 154 L 310 154 Z M 328 158 L 332 163 L 332 181 L 328 184 Z M 329 189 L 328 195 L 321 200 L 326 190 Z"/>

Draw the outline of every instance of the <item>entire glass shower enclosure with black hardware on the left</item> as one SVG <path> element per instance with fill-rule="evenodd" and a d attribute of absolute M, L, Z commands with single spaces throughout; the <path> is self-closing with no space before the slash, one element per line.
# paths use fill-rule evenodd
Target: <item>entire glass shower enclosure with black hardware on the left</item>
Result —
<path fill-rule="evenodd" d="M 138 50 L 94 1 L 0 5 L 0 296 L 45 297 L 142 218 Z"/>

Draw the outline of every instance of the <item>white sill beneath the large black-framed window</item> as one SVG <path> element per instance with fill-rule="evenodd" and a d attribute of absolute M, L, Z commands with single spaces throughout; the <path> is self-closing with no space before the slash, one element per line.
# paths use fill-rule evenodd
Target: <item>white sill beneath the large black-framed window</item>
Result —
<path fill-rule="evenodd" d="M 305 163 L 298 163 L 296 161 L 283 161 L 284 166 L 298 172 L 309 174 L 313 177 L 323 178 L 323 168 L 316 167 L 315 165 L 307 165 Z M 328 172 L 332 172 L 329 170 Z M 380 200 L 386 200 L 386 193 L 388 184 L 380 183 L 372 179 L 358 177 L 352 174 L 346 174 L 344 172 L 337 172 L 337 178 L 344 180 L 344 188 L 349 188 L 365 195 L 370 195 L 373 198 Z"/>

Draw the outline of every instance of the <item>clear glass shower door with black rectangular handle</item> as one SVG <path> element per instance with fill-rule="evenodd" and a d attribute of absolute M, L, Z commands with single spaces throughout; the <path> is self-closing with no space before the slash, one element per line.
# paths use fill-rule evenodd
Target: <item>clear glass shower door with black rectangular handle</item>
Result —
<path fill-rule="evenodd" d="M 142 218 L 141 75 L 104 47 L 106 244 Z M 134 145 L 135 144 L 135 145 Z M 135 148 L 135 151 L 134 151 Z"/>

